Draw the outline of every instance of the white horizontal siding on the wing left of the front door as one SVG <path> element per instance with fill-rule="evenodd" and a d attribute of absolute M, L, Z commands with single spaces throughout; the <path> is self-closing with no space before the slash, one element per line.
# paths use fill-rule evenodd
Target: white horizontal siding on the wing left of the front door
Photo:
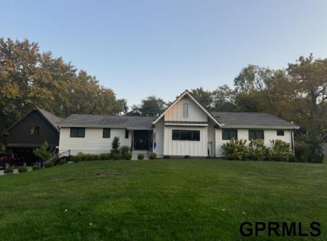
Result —
<path fill-rule="evenodd" d="M 125 138 L 125 129 L 110 130 L 110 138 L 103 138 L 103 128 L 85 128 L 85 137 L 70 137 L 71 128 L 61 127 L 59 138 L 59 153 L 71 150 L 71 155 L 78 152 L 100 154 L 111 150 L 111 143 L 115 136 L 119 137 L 120 147 L 131 146 L 132 133 L 129 131 Z"/>

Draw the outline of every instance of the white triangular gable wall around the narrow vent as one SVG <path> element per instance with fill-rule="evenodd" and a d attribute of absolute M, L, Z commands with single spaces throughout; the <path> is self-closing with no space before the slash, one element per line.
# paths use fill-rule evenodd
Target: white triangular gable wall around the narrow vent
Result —
<path fill-rule="evenodd" d="M 183 117 L 183 104 L 189 104 L 189 117 Z M 165 114 L 165 121 L 207 122 L 207 115 L 190 98 L 183 97 Z"/>

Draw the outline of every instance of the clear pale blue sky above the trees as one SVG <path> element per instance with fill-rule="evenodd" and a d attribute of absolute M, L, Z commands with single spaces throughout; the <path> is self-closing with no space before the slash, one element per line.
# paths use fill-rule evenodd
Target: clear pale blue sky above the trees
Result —
<path fill-rule="evenodd" d="M 215 90 L 255 64 L 327 58 L 325 0 L 2 0 L 0 37 L 38 42 L 112 88 L 149 95 Z"/>

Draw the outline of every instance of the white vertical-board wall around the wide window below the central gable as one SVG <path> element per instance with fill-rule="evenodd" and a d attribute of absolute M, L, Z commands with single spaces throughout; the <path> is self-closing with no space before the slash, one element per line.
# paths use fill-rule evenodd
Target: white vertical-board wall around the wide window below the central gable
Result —
<path fill-rule="evenodd" d="M 200 141 L 173 140 L 172 130 L 198 130 Z M 169 156 L 207 156 L 207 127 L 165 126 L 164 155 Z"/>

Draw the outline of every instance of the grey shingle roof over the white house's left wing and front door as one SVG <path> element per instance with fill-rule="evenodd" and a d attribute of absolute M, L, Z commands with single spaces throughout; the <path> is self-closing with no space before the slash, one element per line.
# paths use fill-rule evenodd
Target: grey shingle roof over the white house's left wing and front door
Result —
<path fill-rule="evenodd" d="M 63 119 L 60 127 L 126 128 L 128 130 L 152 130 L 154 117 L 109 116 L 92 114 L 72 114 Z"/>

